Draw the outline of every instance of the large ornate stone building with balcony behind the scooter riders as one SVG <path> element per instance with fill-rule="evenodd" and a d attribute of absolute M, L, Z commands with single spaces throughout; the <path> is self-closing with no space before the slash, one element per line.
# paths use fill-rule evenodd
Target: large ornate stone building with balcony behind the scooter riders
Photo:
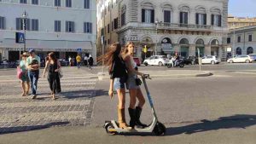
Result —
<path fill-rule="evenodd" d="M 119 43 L 136 43 L 135 54 L 226 58 L 228 0 L 119 0 Z M 147 53 L 143 48 L 147 48 Z"/>

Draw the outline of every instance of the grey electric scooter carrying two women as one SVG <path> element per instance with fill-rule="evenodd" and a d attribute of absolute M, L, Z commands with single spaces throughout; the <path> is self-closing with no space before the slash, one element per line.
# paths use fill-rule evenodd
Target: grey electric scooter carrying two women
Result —
<path fill-rule="evenodd" d="M 125 133 L 126 134 L 127 133 L 135 133 L 135 134 L 136 133 L 152 133 L 152 132 L 154 132 L 154 135 L 165 135 L 166 126 L 164 124 L 161 124 L 158 121 L 158 118 L 156 116 L 156 112 L 154 110 L 154 104 L 153 104 L 151 95 L 150 95 L 149 90 L 148 90 L 148 85 L 146 83 L 146 78 L 148 78 L 148 79 L 151 79 L 151 78 L 149 78 L 149 75 L 147 75 L 146 77 L 143 77 L 143 84 L 144 84 L 144 87 L 145 87 L 146 92 L 147 92 L 149 105 L 150 105 L 151 110 L 153 112 L 153 116 L 154 116 L 153 117 L 153 122 L 151 124 L 149 124 L 148 127 L 143 128 L 143 129 L 135 127 L 132 130 L 125 130 L 125 129 L 120 129 L 119 124 L 114 120 L 105 121 L 104 128 L 106 129 L 106 131 L 109 135 L 125 134 Z"/>

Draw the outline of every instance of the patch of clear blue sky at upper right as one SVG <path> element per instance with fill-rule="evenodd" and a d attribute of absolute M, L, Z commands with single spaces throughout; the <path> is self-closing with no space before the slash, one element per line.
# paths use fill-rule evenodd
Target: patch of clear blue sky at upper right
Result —
<path fill-rule="evenodd" d="M 229 14 L 237 17 L 256 17 L 256 0 L 229 0 Z"/>

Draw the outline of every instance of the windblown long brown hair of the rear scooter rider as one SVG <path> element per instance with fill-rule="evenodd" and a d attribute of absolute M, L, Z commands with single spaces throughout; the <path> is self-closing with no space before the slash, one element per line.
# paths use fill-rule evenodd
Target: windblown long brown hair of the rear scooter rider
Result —
<path fill-rule="evenodd" d="M 108 53 L 106 55 L 104 55 L 104 58 L 103 58 L 104 64 L 105 64 L 105 66 L 108 66 L 109 73 L 112 71 L 113 59 L 114 59 L 114 57 L 119 56 L 121 49 L 122 49 L 121 44 L 113 43 L 108 48 Z"/>

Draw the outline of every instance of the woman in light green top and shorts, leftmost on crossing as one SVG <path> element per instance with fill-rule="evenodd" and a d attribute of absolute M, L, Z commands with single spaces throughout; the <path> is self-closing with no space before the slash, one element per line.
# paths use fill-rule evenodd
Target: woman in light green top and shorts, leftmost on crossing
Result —
<path fill-rule="evenodd" d="M 27 74 L 27 67 L 26 67 L 26 58 L 28 56 L 29 55 L 26 52 L 24 52 L 21 55 L 21 60 L 20 60 L 20 65 L 19 65 L 21 72 L 22 72 L 21 77 L 20 77 L 20 83 L 21 83 L 21 88 L 22 88 L 21 96 L 28 95 L 29 87 L 30 87 L 29 78 L 28 78 L 28 74 Z"/>

